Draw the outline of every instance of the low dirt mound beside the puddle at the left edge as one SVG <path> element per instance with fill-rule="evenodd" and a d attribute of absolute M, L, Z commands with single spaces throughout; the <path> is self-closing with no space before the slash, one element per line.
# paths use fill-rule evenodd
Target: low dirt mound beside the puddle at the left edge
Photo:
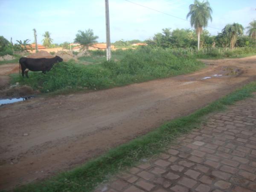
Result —
<path fill-rule="evenodd" d="M 32 87 L 27 85 L 19 86 L 19 85 L 12 85 L 10 88 L 0 90 L 0 97 L 1 98 L 8 98 L 8 97 L 20 97 L 20 96 L 29 96 L 34 95 L 38 92 L 35 92 Z"/>

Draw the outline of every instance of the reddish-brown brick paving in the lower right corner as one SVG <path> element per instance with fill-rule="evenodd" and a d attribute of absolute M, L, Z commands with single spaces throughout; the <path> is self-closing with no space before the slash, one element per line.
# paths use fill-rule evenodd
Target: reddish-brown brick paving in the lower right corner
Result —
<path fill-rule="evenodd" d="M 96 192 L 256 191 L 256 98 L 214 113 L 207 122 Z"/>

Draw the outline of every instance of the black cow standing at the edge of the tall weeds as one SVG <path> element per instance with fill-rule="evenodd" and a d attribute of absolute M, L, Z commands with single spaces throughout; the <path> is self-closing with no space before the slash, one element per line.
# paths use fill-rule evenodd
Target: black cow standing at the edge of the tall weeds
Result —
<path fill-rule="evenodd" d="M 29 70 L 31 71 L 42 71 L 45 73 L 46 71 L 51 70 L 53 64 L 63 61 L 63 59 L 59 56 L 55 56 L 54 58 L 20 58 L 20 67 L 21 74 L 24 77 L 24 73 L 27 78 Z"/>

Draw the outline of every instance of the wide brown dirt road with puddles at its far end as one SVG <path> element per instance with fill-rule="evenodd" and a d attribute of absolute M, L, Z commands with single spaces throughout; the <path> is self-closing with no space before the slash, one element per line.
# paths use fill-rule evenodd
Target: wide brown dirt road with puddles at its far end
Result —
<path fill-rule="evenodd" d="M 256 80 L 256 56 L 204 62 L 189 75 L 1 106 L 0 189 L 70 169 Z"/>

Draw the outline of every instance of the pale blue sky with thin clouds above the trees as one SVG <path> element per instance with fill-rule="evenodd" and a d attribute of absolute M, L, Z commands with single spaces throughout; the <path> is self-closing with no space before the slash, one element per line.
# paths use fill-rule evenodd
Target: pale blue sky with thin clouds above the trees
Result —
<path fill-rule="evenodd" d="M 191 29 L 186 15 L 194 0 L 129 1 L 133 3 L 109 0 L 111 42 L 121 39 L 144 41 L 164 28 Z M 256 20 L 255 0 L 209 0 L 209 3 L 212 22 L 207 30 L 211 35 L 217 35 L 228 23 L 246 27 Z M 73 42 L 79 30 L 89 28 L 99 36 L 97 41 L 106 42 L 105 0 L 0 0 L 0 36 L 9 41 L 12 37 L 13 42 L 30 39 L 32 43 L 34 28 L 38 44 L 42 44 L 45 31 L 50 32 L 53 43 L 60 44 Z"/>

